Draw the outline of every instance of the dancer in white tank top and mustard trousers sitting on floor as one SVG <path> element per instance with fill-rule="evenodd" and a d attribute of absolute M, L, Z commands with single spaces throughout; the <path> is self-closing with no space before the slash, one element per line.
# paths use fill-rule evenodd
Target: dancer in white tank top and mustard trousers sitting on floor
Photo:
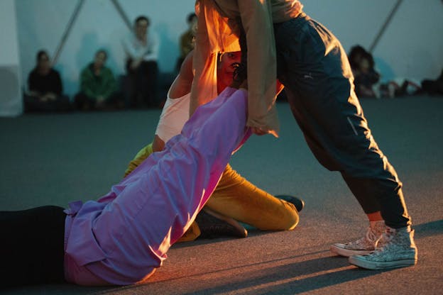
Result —
<path fill-rule="evenodd" d="M 233 73 L 239 65 L 241 52 L 225 52 L 219 56 L 217 66 L 217 92 L 232 83 Z M 168 91 L 168 100 L 160 115 L 153 143 L 143 147 L 126 169 L 131 173 L 152 152 L 163 150 L 165 142 L 180 133 L 189 118 L 190 91 L 192 85 L 192 52 L 182 63 L 180 72 Z M 284 199 L 284 200 L 282 200 Z M 195 240 L 202 236 L 219 235 L 246 237 L 246 230 L 237 221 L 260 230 L 292 230 L 299 221 L 298 211 L 303 202 L 295 196 L 272 196 L 241 177 L 231 165 L 227 165 L 222 179 L 207 202 L 204 210 L 180 241 Z M 219 220 L 208 214 L 215 215 Z M 226 221 L 223 223 L 221 221 Z M 200 235 L 201 234 L 201 235 Z"/>

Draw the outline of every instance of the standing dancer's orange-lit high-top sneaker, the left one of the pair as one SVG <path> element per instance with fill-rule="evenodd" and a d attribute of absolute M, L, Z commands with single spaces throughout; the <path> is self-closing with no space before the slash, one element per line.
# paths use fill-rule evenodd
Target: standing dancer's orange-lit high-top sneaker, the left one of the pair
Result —
<path fill-rule="evenodd" d="M 371 221 L 363 238 L 346 244 L 334 244 L 331 252 L 346 257 L 371 253 L 376 250 L 385 228 L 385 221 Z"/>

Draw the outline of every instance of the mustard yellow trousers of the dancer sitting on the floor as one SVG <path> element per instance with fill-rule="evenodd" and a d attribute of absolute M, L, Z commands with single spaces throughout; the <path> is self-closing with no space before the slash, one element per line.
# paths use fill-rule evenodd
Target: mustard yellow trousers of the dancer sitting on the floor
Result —
<path fill-rule="evenodd" d="M 129 163 L 125 177 L 152 152 L 152 143 L 143 147 Z M 205 206 L 260 230 L 292 230 L 299 221 L 297 209 L 293 204 L 259 189 L 241 177 L 229 164 Z M 179 241 L 195 240 L 199 235 L 199 227 L 194 221 Z"/>

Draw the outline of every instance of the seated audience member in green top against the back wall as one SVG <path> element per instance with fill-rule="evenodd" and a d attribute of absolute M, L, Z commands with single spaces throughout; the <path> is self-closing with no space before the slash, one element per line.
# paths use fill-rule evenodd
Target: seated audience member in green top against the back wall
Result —
<path fill-rule="evenodd" d="M 80 93 L 75 96 L 75 104 L 80 110 L 121 107 L 116 94 L 117 85 L 111 69 L 105 66 L 107 53 L 98 50 L 94 62 L 84 67 L 80 74 Z"/>

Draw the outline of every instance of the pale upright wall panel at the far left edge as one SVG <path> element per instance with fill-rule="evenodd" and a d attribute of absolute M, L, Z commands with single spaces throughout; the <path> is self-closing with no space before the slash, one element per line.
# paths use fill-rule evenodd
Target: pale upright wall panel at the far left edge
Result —
<path fill-rule="evenodd" d="M 16 116 L 22 111 L 20 62 L 13 0 L 0 3 L 0 116 Z"/>

